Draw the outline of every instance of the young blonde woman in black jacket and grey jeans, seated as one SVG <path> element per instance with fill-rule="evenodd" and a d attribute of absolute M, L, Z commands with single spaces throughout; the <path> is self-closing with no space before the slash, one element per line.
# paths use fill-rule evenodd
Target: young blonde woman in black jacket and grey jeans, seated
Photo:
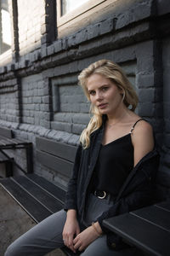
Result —
<path fill-rule="evenodd" d="M 83 256 L 135 255 L 103 220 L 151 203 L 158 165 L 152 127 L 134 113 L 138 97 L 114 62 L 96 61 L 78 79 L 93 116 L 80 137 L 65 210 L 14 241 L 5 256 L 44 255 L 64 245 Z"/>

